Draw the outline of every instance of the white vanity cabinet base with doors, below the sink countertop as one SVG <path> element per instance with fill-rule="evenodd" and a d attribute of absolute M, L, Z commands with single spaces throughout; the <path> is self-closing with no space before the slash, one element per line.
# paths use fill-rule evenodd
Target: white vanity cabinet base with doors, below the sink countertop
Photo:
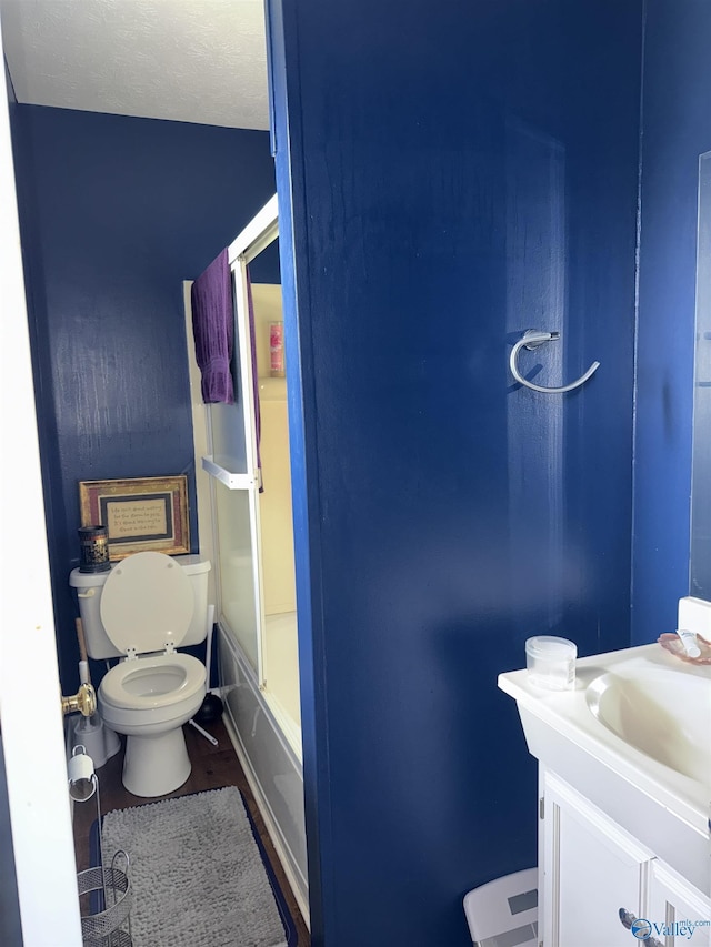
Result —
<path fill-rule="evenodd" d="M 689 944 L 673 921 L 711 918 L 711 901 L 557 774 L 540 767 L 539 937 L 543 947 L 631 947 L 645 918 L 663 947 Z M 624 911 L 628 927 L 620 918 Z M 677 934 L 677 936 L 674 936 Z M 694 928 L 709 947 L 711 927 Z M 642 940 L 655 947 L 654 939 Z"/>

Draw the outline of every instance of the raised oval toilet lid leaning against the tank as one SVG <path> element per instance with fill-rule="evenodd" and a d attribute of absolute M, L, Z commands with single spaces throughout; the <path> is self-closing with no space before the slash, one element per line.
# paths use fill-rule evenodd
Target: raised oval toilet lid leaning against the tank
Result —
<path fill-rule="evenodd" d="M 101 593 L 101 621 L 126 654 L 177 647 L 186 636 L 194 600 L 190 578 L 163 553 L 136 553 L 118 563 Z"/>

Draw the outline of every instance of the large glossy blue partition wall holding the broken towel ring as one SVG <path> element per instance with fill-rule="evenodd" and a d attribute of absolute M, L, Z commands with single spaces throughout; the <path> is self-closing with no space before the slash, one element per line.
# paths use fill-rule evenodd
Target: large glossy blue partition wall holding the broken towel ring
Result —
<path fill-rule="evenodd" d="M 462 895 L 535 862 L 497 675 L 537 633 L 629 644 L 641 4 L 271 21 L 313 943 L 455 947 Z M 594 379 L 512 384 L 557 325 Z"/>

